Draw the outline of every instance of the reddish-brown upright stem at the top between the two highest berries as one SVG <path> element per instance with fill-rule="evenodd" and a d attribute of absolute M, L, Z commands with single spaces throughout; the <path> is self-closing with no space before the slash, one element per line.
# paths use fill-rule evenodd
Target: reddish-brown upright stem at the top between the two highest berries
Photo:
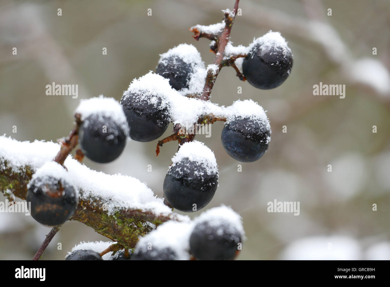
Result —
<path fill-rule="evenodd" d="M 239 0 L 236 0 L 234 4 L 233 17 L 230 16 L 229 12 L 225 12 L 225 28 L 222 31 L 222 34 L 218 37 L 218 50 L 216 53 L 216 57 L 213 61 L 213 64 L 218 66 L 218 70 L 216 72 L 213 69 L 209 69 L 207 71 L 206 82 L 204 84 L 203 93 L 200 96 L 201 100 L 208 101 L 210 100 L 211 90 L 213 89 L 216 77 L 222 68 L 222 61 L 225 55 L 225 48 L 230 39 L 230 32 L 232 30 L 234 18 L 236 18 L 237 10 L 238 10 Z"/>

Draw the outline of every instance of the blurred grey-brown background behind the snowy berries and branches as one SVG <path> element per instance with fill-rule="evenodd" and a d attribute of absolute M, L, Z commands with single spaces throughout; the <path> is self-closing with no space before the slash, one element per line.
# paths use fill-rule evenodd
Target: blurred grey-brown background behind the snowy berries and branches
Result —
<path fill-rule="evenodd" d="M 180 43 L 196 46 L 210 64 L 209 41 L 195 41 L 188 28 L 220 22 L 221 10 L 233 5 L 234 0 L 1 0 L 0 134 L 20 141 L 68 135 L 81 98 L 104 94 L 120 100 L 133 78 L 155 70 L 159 54 Z M 272 139 L 260 160 L 241 163 L 223 150 L 222 122 L 211 127 L 211 137 L 196 136 L 214 151 L 220 171 L 205 209 L 223 203 L 241 214 L 247 237 L 241 260 L 390 259 L 390 2 L 241 0 L 239 7 L 234 45 L 280 31 L 294 64 L 284 84 L 272 90 L 241 82 L 232 68 L 221 71 L 211 100 L 259 102 L 268 111 Z M 47 96 L 45 86 L 52 82 L 78 84 L 78 98 Z M 320 82 L 345 84 L 346 97 L 314 96 L 313 85 Z M 171 130 L 172 124 L 165 136 Z M 161 197 L 177 145 L 165 144 L 156 157 L 156 143 L 130 141 L 111 164 L 84 163 L 134 176 Z M 300 215 L 268 213 L 267 203 L 275 199 L 299 201 Z M 0 213 L 0 259 L 32 258 L 49 231 L 30 216 Z M 95 240 L 108 241 L 82 223 L 68 222 L 43 259 L 63 259 L 80 241 Z"/>

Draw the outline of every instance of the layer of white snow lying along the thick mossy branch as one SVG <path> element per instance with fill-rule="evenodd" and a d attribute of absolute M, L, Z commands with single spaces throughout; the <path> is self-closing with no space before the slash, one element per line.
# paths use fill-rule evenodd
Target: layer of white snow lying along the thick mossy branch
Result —
<path fill-rule="evenodd" d="M 7 161 L 7 166 L 18 171 L 28 165 L 37 170 L 51 161 L 60 150 L 60 145 L 52 142 L 20 142 L 11 137 L 0 136 L 0 159 Z M 0 165 L 4 162 L 0 160 Z M 79 191 L 80 200 L 96 198 L 106 204 L 108 214 L 119 210 L 142 210 L 154 214 L 172 215 L 172 210 L 157 198 L 151 189 L 137 178 L 115 174 L 107 175 L 80 164 L 69 155 L 64 162 L 69 178 Z M 185 216 L 175 214 L 183 219 Z"/>

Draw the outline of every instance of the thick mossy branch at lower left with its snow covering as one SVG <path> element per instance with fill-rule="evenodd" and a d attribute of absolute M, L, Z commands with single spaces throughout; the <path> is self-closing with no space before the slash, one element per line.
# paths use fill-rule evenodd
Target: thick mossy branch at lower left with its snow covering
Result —
<path fill-rule="evenodd" d="M 20 142 L 0 136 L 0 189 L 9 200 L 26 199 L 27 184 L 37 169 L 54 159 L 60 144 Z M 186 220 L 157 198 L 146 184 L 125 175 L 107 175 L 89 169 L 70 155 L 64 162 L 78 189 L 79 201 L 71 220 L 94 228 L 99 234 L 134 248 L 145 235 L 168 220 Z"/>

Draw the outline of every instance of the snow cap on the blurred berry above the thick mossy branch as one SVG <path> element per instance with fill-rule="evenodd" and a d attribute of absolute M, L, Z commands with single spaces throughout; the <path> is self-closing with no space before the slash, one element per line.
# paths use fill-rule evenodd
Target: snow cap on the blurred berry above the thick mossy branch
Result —
<path fill-rule="evenodd" d="M 124 131 L 128 131 L 127 119 L 122 105 L 114 98 L 105 98 L 103 95 L 100 95 L 95 98 L 82 99 L 74 112 L 81 114 L 82 121 L 91 114 L 106 116 L 120 125 Z"/>

